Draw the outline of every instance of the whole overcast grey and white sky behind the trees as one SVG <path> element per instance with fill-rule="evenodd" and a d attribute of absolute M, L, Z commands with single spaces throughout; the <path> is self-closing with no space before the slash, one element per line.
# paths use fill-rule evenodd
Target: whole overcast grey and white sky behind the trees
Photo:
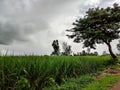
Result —
<path fill-rule="evenodd" d="M 51 54 L 53 40 L 67 42 L 74 52 L 83 50 L 81 43 L 68 39 L 66 29 L 85 15 L 88 8 L 112 6 L 120 0 L 0 0 L 0 53 Z M 116 44 L 113 51 L 117 53 Z M 86 49 L 85 49 L 86 50 Z M 99 54 L 108 51 L 97 45 Z"/>

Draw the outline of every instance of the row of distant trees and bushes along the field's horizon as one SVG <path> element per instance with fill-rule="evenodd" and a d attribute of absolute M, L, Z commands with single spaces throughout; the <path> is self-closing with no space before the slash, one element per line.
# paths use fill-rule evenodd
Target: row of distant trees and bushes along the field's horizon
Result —
<path fill-rule="evenodd" d="M 87 48 L 87 50 L 82 50 L 82 52 L 77 52 L 74 53 L 71 49 L 71 45 L 68 45 L 67 42 L 63 42 L 62 43 L 62 49 L 63 51 L 61 52 L 60 50 L 60 45 L 59 45 L 59 41 L 58 40 L 54 40 L 52 42 L 52 47 L 53 47 L 53 52 L 51 53 L 51 55 L 53 56 L 97 56 L 98 52 L 90 52 L 90 48 Z"/>

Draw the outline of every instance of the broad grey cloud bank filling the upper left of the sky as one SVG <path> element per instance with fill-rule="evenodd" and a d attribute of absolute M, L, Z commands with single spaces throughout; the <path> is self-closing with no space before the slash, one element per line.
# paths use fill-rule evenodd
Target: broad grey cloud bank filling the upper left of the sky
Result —
<path fill-rule="evenodd" d="M 29 36 L 50 29 L 51 18 L 70 3 L 74 0 L 1 0 L 0 44 L 32 41 Z"/>

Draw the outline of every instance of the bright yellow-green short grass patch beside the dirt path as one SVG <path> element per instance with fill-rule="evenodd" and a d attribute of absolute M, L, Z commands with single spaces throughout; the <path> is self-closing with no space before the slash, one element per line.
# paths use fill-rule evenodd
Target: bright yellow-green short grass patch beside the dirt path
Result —
<path fill-rule="evenodd" d="M 106 75 L 98 79 L 82 90 L 110 90 L 110 88 L 118 81 L 120 76 Z"/>

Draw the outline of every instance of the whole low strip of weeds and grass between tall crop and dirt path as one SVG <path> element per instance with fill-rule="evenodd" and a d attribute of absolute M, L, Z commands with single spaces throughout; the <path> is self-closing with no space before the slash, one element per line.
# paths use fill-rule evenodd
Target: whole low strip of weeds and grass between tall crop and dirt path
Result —
<path fill-rule="evenodd" d="M 68 79 L 59 87 L 46 87 L 43 90 L 110 90 L 119 78 L 120 76 L 106 75 L 95 80 L 91 75 L 84 75 Z"/>

